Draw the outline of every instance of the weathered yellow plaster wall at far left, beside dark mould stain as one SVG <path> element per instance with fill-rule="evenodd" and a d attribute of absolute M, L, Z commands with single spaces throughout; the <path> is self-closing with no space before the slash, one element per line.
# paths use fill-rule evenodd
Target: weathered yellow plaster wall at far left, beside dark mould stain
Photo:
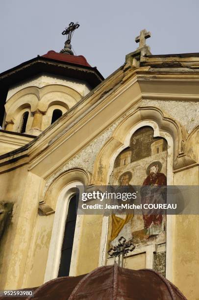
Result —
<path fill-rule="evenodd" d="M 26 165 L 1 174 L 0 201 L 13 202 L 14 209 L 11 224 L 0 241 L 0 289 L 22 287 L 29 242 L 38 214 L 39 184 L 40 178 L 27 172 Z"/>

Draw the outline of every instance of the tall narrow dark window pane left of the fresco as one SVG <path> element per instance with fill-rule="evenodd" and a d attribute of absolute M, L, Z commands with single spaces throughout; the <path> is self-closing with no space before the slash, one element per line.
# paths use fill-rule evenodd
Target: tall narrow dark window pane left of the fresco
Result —
<path fill-rule="evenodd" d="M 71 256 L 75 235 L 75 224 L 78 208 L 78 195 L 74 195 L 69 202 L 69 209 L 65 224 L 64 239 L 61 250 L 58 277 L 68 276 L 71 266 Z"/>

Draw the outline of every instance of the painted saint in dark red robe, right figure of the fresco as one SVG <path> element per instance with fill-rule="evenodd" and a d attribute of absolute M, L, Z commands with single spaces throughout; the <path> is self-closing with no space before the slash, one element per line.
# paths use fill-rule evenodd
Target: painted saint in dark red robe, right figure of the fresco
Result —
<path fill-rule="evenodd" d="M 144 180 L 141 188 L 141 203 L 156 204 L 166 202 L 166 184 L 167 178 L 161 171 L 162 164 L 159 161 L 151 163 L 147 168 L 147 178 Z M 156 235 L 162 231 L 163 210 L 142 209 L 144 228 L 147 235 Z"/>

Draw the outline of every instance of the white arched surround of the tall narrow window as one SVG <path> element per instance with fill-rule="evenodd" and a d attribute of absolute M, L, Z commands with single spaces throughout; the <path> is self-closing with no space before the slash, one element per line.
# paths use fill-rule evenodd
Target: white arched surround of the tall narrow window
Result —
<path fill-rule="evenodd" d="M 68 176 L 68 174 L 66 175 Z M 60 178 L 60 180 L 62 179 Z M 63 262 L 63 258 L 62 258 L 63 255 L 61 255 L 63 252 L 62 250 L 64 250 L 63 238 L 65 237 L 66 234 L 69 235 L 70 233 L 70 230 L 68 231 L 67 228 L 65 230 L 65 227 L 67 226 L 66 221 L 68 221 L 67 215 L 70 210 L 69 204 L 70 201 L 73 201 L 72 198 L 74 195 L 79 196 L 79 188 L 77 187 L 81 187 L 81 186 L 83 186 L 83 183 L 81 181 L 70 182 L 60 191 L 58 195 L 57 202 L 56 202 L 56 211 L 54 215 L 54 222 L 52 226 L 52 234 L 50 239 L 50 247 L 48 253 L 45 278 L 44 278 L 45 282 L 57 278 L 58 275 L 59 276 L 61 275 L 61 270 L 59 272 L 59 269 L 61 269 L 60 262 L 61 264 Z M 51 191 L 54 190 L 56 190 L 56 188 L 55 189 L 52 188 Z M 57 190 L 53 195 L 56 197 Z M 75 204 L 75 206 L 77 207 L 77 203 Z M 70 276 L 77 275 L 77 271 L 76 271 L 77 263 L 78 263 L 77 257 L 78 257 L 78 250 L 80 248 L 79 240 L 81 236 L 82 222 L 83 222 L 83 215 L 78 214 L 76 216 L 76 222 L 75 222 L 75 226 L 76 228 L 78 228 L 78 230 L 75 230 L 74 239 L 72 243 L 73 246 L 69 247 L 69 248 L 72 247 L 74 248 L 74 250 L 72 251 L 72 256 L 69 257 Z"/>

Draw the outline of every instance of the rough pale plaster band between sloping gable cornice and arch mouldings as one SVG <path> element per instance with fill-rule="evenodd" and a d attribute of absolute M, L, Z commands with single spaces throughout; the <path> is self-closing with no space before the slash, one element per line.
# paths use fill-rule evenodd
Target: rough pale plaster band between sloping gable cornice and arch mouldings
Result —
<path fill-rule="evenodd" d="M 160 108 L 166 112 L 174 120 L 177 120 L 190 133 L 197 125 L 199 125 L 199 102 L 195 101 L 165 101 L 165 100 L 141 100 L 126 114 L 129 114 L 139 106 L 153 106 Z M 70 161 L 62 166 L 47 180 L 44 193 L 49 188 L 50 184 L 62 173 L 72 168 L 83 168 L 90 173 L 93 172 L 93 167 L 97 155 L 105 142 L 112 136 L 113 131 L 125 118 L 126 114 L 118 119 L 113 125 L 93 140 L 88 146 L 76 154 Z"/>

